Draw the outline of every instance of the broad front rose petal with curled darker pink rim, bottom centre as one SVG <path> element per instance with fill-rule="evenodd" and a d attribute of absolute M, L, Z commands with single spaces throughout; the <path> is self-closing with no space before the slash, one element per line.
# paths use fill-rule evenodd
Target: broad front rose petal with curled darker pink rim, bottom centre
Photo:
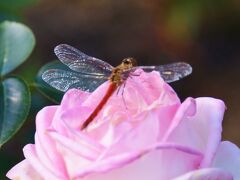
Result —
<path fill-rule="evenodd" d="M 108 157 L 79 170 L 87 180 L 169 179 L 196 169 L 202 154 L 176 144 L 156 144 L 143 151 Z M 90 176 L 87 176 L 92 174 Z M 87 177 L 86 177 L 87 176 Z"/>

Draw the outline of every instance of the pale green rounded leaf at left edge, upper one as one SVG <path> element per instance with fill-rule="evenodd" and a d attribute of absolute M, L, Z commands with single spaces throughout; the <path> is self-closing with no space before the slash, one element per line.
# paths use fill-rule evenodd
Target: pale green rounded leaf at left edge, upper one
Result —
<path fill-rule="evenodd" d="M 5 21 L 0 24 L 0 75 L 22 64 L 35 45 L 32 31 L 23 24 Z"/>

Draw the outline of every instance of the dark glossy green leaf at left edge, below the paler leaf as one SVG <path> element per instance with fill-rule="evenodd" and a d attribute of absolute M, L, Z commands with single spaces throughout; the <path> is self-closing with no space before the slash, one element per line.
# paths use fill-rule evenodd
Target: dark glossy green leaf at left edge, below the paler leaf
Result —
<path fill-rule="evenodd" d="M 30 91 L 17 77 L 0 84 L 0 147 L 22 126 L 30 109 Z"/>

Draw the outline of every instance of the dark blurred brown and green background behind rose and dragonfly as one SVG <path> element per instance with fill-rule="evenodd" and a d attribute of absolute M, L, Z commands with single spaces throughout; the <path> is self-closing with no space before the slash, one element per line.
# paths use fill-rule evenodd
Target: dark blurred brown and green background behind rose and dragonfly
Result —
<path fill-rule="evenodd" d="M 171 84 L 182 100 L 212 96 L 225 101 L 223 139 L 240 145 L 239 0 L 1 0 L 0 21 L 29 26 L 36 47 L 15 73 L 29 84 L 67 43 L 117 65 L 132 56 L 141 65 L 186 61 L 193 74 Z M 31 86 L 32 107 L 23 128 L 0 150 L 0 179 L 33 143 L 36 113 L 54 104 Z"/>

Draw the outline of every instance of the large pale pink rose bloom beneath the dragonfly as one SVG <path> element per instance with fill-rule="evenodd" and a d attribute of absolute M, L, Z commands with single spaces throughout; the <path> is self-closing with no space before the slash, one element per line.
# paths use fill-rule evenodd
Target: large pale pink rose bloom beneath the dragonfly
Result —
<path fill-rule="evenodd" d="M 60 105 L 36 117 L 35 144 L 10 179 L 168 180 L 240 179 L 240 150 L 221 141 L 223 101 L 183 103 L 158 72 L 126 81 L 89 126 L 81 125 L 104 96 L 69 90 Z"/>

